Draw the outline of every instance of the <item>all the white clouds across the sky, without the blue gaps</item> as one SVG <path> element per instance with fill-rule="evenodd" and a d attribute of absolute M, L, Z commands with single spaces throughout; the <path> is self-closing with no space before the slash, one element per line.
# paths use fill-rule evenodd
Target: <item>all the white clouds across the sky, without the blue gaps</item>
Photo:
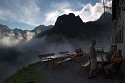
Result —
<path fill-rule="evenodd" d="M 68 1 L 51 2 L 51 8 L 46 11 L 40 10 L 39 1 L 41 0 L 26 0 L 25 2 L 23 0 L 5 0 L 6 7 L 0 6 L 0 19 L 37 26 L 54 24 L 58 16 L 71 12 L 79 15 L 83 22 L 94 21 L 104 12 L 102 0 L 95 5 L 78 2 L 75 7 L 80 7 L 79 10 L 75 10 L 74 6 Z M 105 0 L 106 6 L 111 7 L 111 3 L 111 0 Z"/>

